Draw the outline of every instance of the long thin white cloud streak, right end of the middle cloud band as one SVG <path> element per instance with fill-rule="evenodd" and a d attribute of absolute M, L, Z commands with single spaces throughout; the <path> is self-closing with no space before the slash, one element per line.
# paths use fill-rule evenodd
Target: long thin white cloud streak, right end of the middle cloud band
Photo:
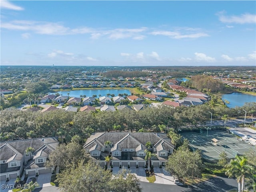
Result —
<path fill-rule="evenodd" d="M 186 30 L 191 31 L 191 30 Z M 173 32 L 173 31 L 154 31 L 151 32 L 152 35 L 164 35 L 169 36 L 174 39 L 181 39 L 181 38 L 200 38 L 200 37 L 207 37 L 209 36 L 206 33 L 192 33 L 192 34 L 181 34 L 180 32 Z"/>

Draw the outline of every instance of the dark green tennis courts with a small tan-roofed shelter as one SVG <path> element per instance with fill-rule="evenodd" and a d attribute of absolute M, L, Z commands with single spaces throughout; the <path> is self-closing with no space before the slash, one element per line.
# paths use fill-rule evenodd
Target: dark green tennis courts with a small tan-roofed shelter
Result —
<path fill-rule="evenodd" d="M 208 136 L 206 132 L 201 132 L 201 134 L 188 132 L 181 135 L 189 140 L 193 150 L 201 150 L 202 157 L 210 161 L 218 160 L 223 151 L 226 152 L 228 158 L 234 158 L 236 154 L 244 154 L 251 148 L 256 150 L 254 146 L 226 132 L 208 131 Z"/>

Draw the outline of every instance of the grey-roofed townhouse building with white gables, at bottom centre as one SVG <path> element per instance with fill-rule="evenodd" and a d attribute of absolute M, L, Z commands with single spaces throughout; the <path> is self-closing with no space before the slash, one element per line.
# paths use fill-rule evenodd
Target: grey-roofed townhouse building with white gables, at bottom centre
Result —
<path fill-rule="evenodd" d="M 105 142 L 111 144 L 105 146 Z M 170 138 L 163 133 L 139 133 L 139 132 L 104 132 L 95 133 L 86 140 L 84 150 L 90 154 L 90 158 L 98 162 L 100 166 L 106 165 L 105 157 L 112 156 L 110 164 L 114 167 L 130 166 L 145 167 L 146 142 L 152 142 L 150 152 L 155 154 L 150 161 L 153 167 L 162 166 L 167 162 L 168 156 L 173 153 L 174 145 Z"/>

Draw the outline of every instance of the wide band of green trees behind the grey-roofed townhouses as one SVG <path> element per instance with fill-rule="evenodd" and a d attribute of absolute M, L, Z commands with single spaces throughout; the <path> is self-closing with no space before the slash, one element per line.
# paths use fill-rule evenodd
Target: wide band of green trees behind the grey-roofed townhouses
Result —
<path fill-rule="evenodd" d="M 70 141 L 75 135 L 87 138 L 92 132 L 156 131 L 158 125 L 168 125 L 169 128 L 181 128 L 188 124 L 195 128 L 213 118 L 244 116 L 244 110 L 249 114 L 256 113 L 256 103 L 246 103 L 243 107 L 226 108 L 218 106 L 210 108 L 208 105 L 194 107 L 146 108 L 136 112 L 134 110 L 117 110 L 115 112 L 65 112 L 54 110 L 49 112 L 26 112 L 16 109 L 2 110 L 0 113 L 0 139 L 36 138 L 42 136 L 59 136 Z M 118 126 L 120 125 L 120 126 Z M 118 127 L 118 128 L 117 128 Z"/>

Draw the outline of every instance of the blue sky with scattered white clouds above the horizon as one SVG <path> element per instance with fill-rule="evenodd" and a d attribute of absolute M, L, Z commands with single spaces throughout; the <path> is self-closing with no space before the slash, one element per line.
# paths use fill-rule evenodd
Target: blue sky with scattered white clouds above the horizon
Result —
<path fill-rule="evenodd" d="M 1 65 L 256 66 L 256 1 L 1 0 Z"/>

